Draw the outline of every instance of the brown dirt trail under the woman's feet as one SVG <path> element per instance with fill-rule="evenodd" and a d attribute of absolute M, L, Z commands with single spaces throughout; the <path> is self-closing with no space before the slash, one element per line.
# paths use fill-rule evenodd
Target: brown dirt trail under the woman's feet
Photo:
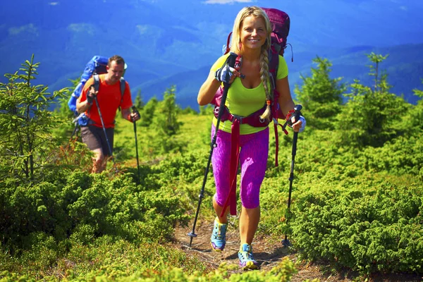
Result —
<path fill-rule="evenodd" d="M 240 247 L 238 229 L 231 224 L 228 226 L 226 233 L 226 247 L 223 252 L 214 252 L 210 246 L 210 235 L 212 233 L 213 221 L 198 221 L 195 228 L 197 237 L 193 238 L 192 245 L 189 247 L 190 237 L 187 235 L 192 231 L 192 223 L 188 227 L 178 226 L 175 230 L 175 245 L 180 250 L 190 255 L 195 255 L 200 260 L 209 265 L 211 269 L 216 269 L 221 262 L 238 265 L 238 250 Z M 290 252 L 286 247 L 282 247 L 281 242 L 274 243 L 270 238 L 264 236 L 255 237 L 252 243 L 252 250 L 255 259 L 260 264 L 259 271 L 270 271 L 276 266 L 283 257 L 288 257 L 291 261 L 297 261 L 295 252 Z M 321 282 L 352 282 L 357 281 L 357 274 L 354 273 L 331 273 L 331 271 L 322 271 L 324 265 L 319 264 L 297 264 L 298 273 L 295 274 L 291 281 L 300 282 L 305 279 L 312 280 L 319 278 Z M 233 271 L 233 273 L 242 272 L 241 269 Z M 369 278 L 369 282 L 422 282 L 423 277 L 417 275 L 375 275 Z"/>

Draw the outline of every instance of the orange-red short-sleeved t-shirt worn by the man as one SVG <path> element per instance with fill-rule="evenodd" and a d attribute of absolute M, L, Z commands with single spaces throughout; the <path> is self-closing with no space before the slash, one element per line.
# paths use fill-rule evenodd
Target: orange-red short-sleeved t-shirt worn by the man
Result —
<path fill-rule="evenodd" d="M 106 74 L 99 75 L 99 92 L 97 93 L 97 101 L 99 102 L 100 112 L 104 121 L 105 128 L 114 128 L 114 120 L 116 118 L 116 111 L 118 107 L 121 109 L 130 108 L 133 103 L 130 97 L 130 89 L 128 82 L 125 81 L 125 92 L 123 92 L 123 101 L 121 94 L 121 82 L 116 82 L 114 85 L 106 84 L 104 76 Z M 94 78 L 90 78 L 85 82 L 84 89 L 78 98 L 78 102 L 84 102 L 87 99 L 87 92 L 91 85 L 94 84 Z M 94 122 L 94 126 L 99 128 L 102 127 L 102 121 L 100 120 L 99 111 L 97 110 L 97 104 L 95 101 L 92 103 L 90 109 L 85 111 L 85 115 Z"/>

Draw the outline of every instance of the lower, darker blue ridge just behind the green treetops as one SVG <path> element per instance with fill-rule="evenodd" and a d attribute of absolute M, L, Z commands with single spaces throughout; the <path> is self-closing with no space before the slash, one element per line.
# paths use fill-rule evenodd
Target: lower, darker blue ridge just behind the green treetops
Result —
<path fill-rule="evenodd" d="M 294 47 L 295 50 L 295 47 Z M 423 44 L 406 44 L 396 47 L 351 47 L 347 49 L 319 49 L 316 52 L 295 53 L 294 61 L 290 61 L 290 51 L 286 51 L 286 60 L 290 68 L 290 86 L 293 90 L 295 85 L 302 85 L 300 75 L 310 75 L 312 59 L 316 56 L 326 58 L 333 63 L 331 77 L 342 77 L 343 82 L 353 82 L 359 79 L 364 85 L 372 85 L 372 78 L 368 75 L 370 61 L 366 54 L 372 51 L 376 54 L 386 55 L 388 58 L 381 63 L 381 72 L 388 73 L 388 82 L 393 86 L 391 92 L 403 95 L 404 98 L 415 104 L 417 96 L 412 92 L 413 89 L 423 89 Z M 190 106 L 192 109 L 198 109 L 197 93 L 202 82 L 207 78 L 210 66 L 198 68 L 195 71 L 187 71 L 170 75 L 166 78 L 151 80 L 134 87 L 141 90 L 142 99 L 146 101 L 152 96 L 161 99 L 166 88 L 176 85 L 176 98 L 181 106 Z M 293 92 L 293 91 L 292 91 Z"/>

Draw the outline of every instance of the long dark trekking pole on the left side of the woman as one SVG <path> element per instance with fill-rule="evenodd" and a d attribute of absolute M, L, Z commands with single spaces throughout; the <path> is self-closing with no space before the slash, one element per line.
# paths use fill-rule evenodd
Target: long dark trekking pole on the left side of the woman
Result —
<path fill-rule="evenodd" d="M 233 68 L 235 66 L 235 59 L 237 57 L 238 57 L 238 54 L 231 52 L 231 54 L 229 54 L 229 56 L 228 56 L 228 59 L 226 59 L 226 63 L 228 63 L 228 65 L 231 68 Z M 210 163 L 212 161 L 213 150 L 216 147 L 217 131 L 219 130 L 219 124 L 220 124 L 220 121 L 221 121 L 221 116 L 223 114 L 223 108 L 225 107 L 226 96 L 228 95 L 229 87 L 231 87 L 230 83 L 223 82 L 223 94 L 222 94 L 221 104 L 219 106 L 219 114 L 217 116 L 216 131 L 214 132 L 212 143 L 210 144 L 209 160 L 207 161 L 206 171 L 204 172 L 204 178 L 203 178 L 203 182 L 202 182 L 202 188 L 201 188 L 201 191 L 200 191 L 200 195 L 198 195 L 197 212 L 195 213 L 194 224 L 192 225 L 192 232 L 187 234 L 188 236 L 190 236 L 190 247 L 191 247 L 191 244 L 192 244 L 192 239 L 194 237 L 197 237 L 197 234 L 195 234 L 195 225 L 197 224 L 198 214 L 200 212 L 200 205 L 201 205 L 202 199 L 204 198 L 204 188 L 206 186 L 207 174 L 209 174 L 209 168 L 210 168 Z"/>

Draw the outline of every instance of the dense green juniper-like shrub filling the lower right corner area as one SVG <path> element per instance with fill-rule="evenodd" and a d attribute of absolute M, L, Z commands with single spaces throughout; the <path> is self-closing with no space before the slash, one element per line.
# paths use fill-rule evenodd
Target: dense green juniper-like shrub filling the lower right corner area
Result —
<path fill-rule="evenodd" d="M 421 186 L 309 192 L 295 207 L 293 237 L 307 259 L 367 274 L 423 271 Z"/>

